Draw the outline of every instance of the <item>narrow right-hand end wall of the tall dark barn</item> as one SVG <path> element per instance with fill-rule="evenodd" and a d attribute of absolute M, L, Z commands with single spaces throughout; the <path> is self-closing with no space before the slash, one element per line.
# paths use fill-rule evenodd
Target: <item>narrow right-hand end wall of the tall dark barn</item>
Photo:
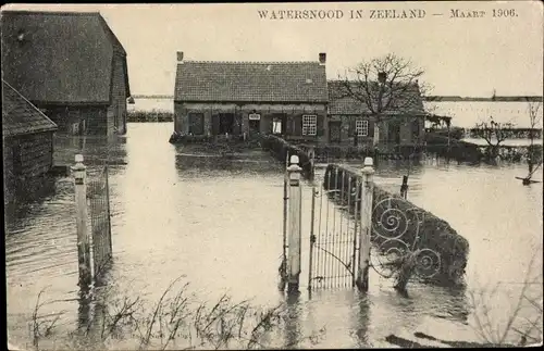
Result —
<path fill-rule="evenodd" d="M 111 104 L 108 106 L 108 135 L 126 133 L 126 72 L 124 57 L 120 52 L 113 54 L 113 72 L 111 85 Z"/>

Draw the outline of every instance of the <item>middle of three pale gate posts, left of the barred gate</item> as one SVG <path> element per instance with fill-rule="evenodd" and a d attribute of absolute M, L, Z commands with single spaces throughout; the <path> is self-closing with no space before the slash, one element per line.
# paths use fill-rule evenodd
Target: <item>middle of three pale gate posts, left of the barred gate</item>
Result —
<path fill-rule="evenodd" d="M 300 189 L 300 172 L 302 168 L 298 165 L 298 156 L 290 156 L 290 165 L 287 167 L 289 177 L 289 253 L 288 253 L 288 276 L 287 292 L 298 292 L 300 277 L 300 241 L 301 241 L 301 206 L 302 191 Z"/>

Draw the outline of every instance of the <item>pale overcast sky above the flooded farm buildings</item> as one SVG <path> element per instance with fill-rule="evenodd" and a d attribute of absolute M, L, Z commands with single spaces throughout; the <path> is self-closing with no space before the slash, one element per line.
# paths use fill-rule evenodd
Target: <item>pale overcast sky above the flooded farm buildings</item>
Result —
<path fill-rule="evenodd" d="M 10 5 L 4 10 L 99 11 L 128 55 L 135 95 L 173 95 L 176 51 L 200 61 L 316 61 L 329 78 L 394 52 L 425 71 L 434 95 L 542 95 L 543 5 L 511 2 Z M 338 20 L 262 20 L 258 10 L 342 10 Z M 423 18 L 371 20 L 374 9 L 422 9 Z M 483 10 L 450 18 L 452 9 Z M 517 17 L 493 18 L 515 9 Z M 363 17 L 350 20 L 350 10 Z M 442 16 L 433 15 L 443 13 Z"/>

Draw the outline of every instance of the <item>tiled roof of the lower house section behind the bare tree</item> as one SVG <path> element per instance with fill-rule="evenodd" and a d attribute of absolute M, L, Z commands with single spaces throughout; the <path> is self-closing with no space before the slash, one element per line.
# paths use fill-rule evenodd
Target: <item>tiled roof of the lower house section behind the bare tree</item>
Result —
<path fill-rule="evenodd" d="M 330 114 L 370 114 L 371 111 L 367 103 L 355 99 L 346 93 L 345 82 L 330 80 L 329 86 L 329 113 Z M 350 83 L 354 90 L 357 89 L 356 83 Z M 357 91 L 357 90 L 356 90 Z M 398 114 L 425 114 L 423 99 L 417 84 L 412 84 L 406 89 L 401 89 L 403 93 L 395 98 L 394 105 L 387 111 L 383 111 L 385 115 Z"/>

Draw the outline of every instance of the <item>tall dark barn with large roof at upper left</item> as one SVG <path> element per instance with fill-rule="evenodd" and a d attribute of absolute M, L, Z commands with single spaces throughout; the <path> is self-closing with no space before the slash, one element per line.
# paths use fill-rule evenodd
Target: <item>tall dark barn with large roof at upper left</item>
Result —
<path fill-rule="evenodd" d="M 100 13 L 2 11 L 3 79 L 61 134 L 126 131 L 126 52 Z"/>

